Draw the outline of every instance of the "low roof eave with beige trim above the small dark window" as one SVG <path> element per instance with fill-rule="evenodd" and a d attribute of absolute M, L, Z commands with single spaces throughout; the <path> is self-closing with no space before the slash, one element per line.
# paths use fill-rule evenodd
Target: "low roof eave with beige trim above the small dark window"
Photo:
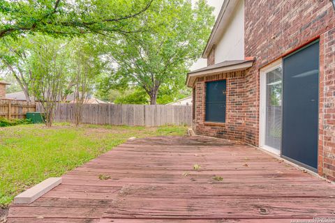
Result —
<path fill-rule="evenodd" d="M 246 70 L 253 66 L 253 61 L 254 61 L 253 58 L 246 59 L 246 60 L 239 60 L 239 61 L 223 61 L 221 63 L 216 63 L 214 65 L 207 66 L 199 70 L 188 72 L 186 84 L 187 86 L 192 87 L 197 77 L 205 77 L 207 75 L 216 75 L 222 72 Z"/>

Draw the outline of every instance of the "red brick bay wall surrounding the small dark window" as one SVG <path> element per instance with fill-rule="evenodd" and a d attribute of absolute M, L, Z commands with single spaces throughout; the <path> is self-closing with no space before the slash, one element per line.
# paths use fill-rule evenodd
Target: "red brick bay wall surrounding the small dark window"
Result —
<path fill-rule="evenodd" d="M 208 123 L 206 112 L 206 82 L 227 79 L 227 105 L 225 123 Z M 195 82 L 195 121 L 196 134 L 211 137 L 244 141 L 244 72 L 229 72 L 198 78 Z"/>

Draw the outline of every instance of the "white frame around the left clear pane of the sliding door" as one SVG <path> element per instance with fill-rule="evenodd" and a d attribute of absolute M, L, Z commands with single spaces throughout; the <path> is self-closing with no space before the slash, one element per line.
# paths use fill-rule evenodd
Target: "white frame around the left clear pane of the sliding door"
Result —
<path fill-rule="evenodd" d="M 267 72 L 271 70 L 275 70 L 276 68 L 282 67 L 282 59 L 278 59 L 278 61 L 274 61 L 273 63 L 265 66 L 260 69 L 260 137 L 259 137 L 259 145 L 260 148 L 269 151 L 270 153 L 274 153 L 276 155 L 281 155 L 281 150 L 277 150 L 276 148 L 272 148 L 270 146 L 265 145 L 265 132 L 266 132 L 266 103 L 267 103 Z"/>

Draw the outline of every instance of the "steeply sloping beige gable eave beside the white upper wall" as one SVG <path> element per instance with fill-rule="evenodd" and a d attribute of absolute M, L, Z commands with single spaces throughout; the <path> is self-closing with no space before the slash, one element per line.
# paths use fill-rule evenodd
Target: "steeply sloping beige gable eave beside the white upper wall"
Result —
<path fill-rule="evenodd" d="M 204 52 L 202 53 L 202 57 L 204 59 L 207 58 L 213 45 L 218 43 L 218 40 L 220 40 L 221 36 L 223 35 L 225 31 L 225 28 L 230 23 L 230 17 L 234 14 L 234 10 L 237 6 L 237 3 L 239 3 L 239 1 L 240 0 L 225 0 L 223 2 L 221 11 L 218 14 L 218 18 L 216 19 L 216 22 L 214 24 L 214 28 L 211 30 L 211 36 L 209 36 L 207 45 L 204 48 Z"/>

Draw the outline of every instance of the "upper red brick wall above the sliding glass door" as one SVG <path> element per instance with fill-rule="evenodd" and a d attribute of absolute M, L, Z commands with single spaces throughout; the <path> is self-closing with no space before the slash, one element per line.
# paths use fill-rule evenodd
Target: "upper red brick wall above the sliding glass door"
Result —
<path fill-rule="evenodd" d="M 246 0 L 245 53 L 260 68 L 335 26 L 329 0 Z"/>

